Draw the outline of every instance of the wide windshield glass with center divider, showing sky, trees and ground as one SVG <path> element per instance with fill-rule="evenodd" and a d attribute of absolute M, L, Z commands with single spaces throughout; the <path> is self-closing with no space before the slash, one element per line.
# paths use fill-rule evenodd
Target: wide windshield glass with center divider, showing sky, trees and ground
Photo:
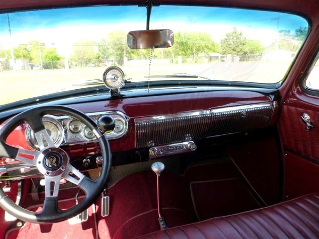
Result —
<path fill-rule="evenodd" d="M 146 29 L 146 8 L 138 6 L 6 13 L 0 24 L 0 105 L 89 87 L 93 79 L 102 85 L 109 66 L 130 82 L 274 84 L 308 34 L 307 21 L 292 14 L 171 5 L 152 7 L 150 18 L 150 29 L 174 33 L 169 48 L 127 46 L 129 31 Z"/>

